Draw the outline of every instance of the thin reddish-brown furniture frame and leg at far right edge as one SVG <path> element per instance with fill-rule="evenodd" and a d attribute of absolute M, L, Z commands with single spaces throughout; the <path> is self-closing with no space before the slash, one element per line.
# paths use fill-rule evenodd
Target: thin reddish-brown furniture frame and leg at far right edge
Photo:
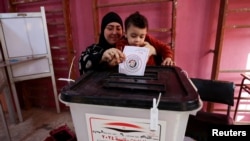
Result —
<path fill-rule="evenodd" d="M 236 107 L 235 107 L 235 112 L 234 112 L 234 120 L 236 119 L 236 115 L 238 112 L 238 107 L 239 107 L 242 91 L 245 91 L 248 94 L 250 94 L 250 83 L 246 83 L 246 81 L 250 81 L 250 76 L 247 76 L 245 74 L 240 74 L 240 75 L 243 78 L 241 80 L 240 91 L 239 91 L 239 95 L 238 95 L 237 102 L 236 102 Z"/>

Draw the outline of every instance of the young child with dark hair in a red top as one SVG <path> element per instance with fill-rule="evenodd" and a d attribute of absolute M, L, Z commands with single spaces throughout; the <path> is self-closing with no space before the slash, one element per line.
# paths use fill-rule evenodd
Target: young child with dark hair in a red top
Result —
<path fill-rule="evenodd" d="M 147 19 L 139 12 L 131 14 L 125 19 L 125 36 L 116 43 L 116 48 L 123 50 L 126 45 L 147 47 L 150 49 L 147 65 L 174 65 L 171 48 L 148 35 L 147 31 Z"/>

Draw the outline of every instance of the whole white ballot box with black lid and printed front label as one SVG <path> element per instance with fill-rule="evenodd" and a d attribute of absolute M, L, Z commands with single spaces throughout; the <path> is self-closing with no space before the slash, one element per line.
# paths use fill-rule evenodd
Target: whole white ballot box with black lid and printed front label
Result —
<path fill-rule="evenodd" d="M 92 71 L 65 86 L 78 141 L 183 141 L 190 114 L 202 107 L 179 67 L 148 66 L 143 76 Z"/>

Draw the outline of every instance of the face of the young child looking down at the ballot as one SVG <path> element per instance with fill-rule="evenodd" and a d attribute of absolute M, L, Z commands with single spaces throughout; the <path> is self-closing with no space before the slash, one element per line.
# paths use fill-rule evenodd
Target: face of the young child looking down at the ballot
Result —
<path fill-rule="evenodd" d="M 129 45 L 133 46 L 144 46 L 144 40 L 147 34 L 147 28 L 138 28 L 134 25 L 130 25 L 125 36 L 128 39 Z"/>

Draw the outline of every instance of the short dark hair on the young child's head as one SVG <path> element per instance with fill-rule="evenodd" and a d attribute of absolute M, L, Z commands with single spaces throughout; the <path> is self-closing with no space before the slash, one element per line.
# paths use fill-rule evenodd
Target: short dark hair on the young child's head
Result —
<path fill-rule="evenodd" d="M 131 14 L 125 19 L 125 31 L 131 26 L 134 25 L 138 28 L 147 28 L 148 29 L 148 20 L 145 16 L 141 15 L 138 11 Z"/>

